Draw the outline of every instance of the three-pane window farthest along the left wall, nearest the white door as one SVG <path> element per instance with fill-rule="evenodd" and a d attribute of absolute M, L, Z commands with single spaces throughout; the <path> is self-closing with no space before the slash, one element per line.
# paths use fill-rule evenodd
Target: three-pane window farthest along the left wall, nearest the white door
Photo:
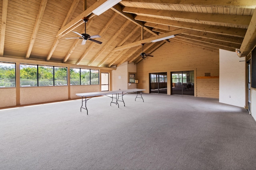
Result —
<path fill-rule="evenodd" d="M 70 68 L 70 85 L 88 85 L 99 83 L 99 70 Z"/>

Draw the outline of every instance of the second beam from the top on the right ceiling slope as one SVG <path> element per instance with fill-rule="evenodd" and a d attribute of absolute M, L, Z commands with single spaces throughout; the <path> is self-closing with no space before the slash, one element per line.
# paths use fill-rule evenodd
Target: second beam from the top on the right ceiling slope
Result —
<path fill-rule="evenodd" d="M 186 19 L 194 21 L 202 21 L 207 23 L 219 23 L 219 24 L 235 24 L 240 26 L 248 26 L 252 16 L 242 16 L 242 15 L 227 15 L 227 14 L 210 14 L 210 13 L 198 13 L 195 12 L 182 12 L 182 11 L 170 11 L 170 10 L 154 10 L 145 8 L 132 8 L 124 7 L 123 12 L 132 13 L 139 16 L 150 16 L 154 18 L 159 18 L 164 16 L 168 17 L 170 20 L 175 19 Z"/>

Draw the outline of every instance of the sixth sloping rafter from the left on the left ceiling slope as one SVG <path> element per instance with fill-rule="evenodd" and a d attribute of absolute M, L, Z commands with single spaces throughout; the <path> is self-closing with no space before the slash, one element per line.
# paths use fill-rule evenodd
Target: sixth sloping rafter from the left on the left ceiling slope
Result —
<path fill-rule="evenodd" d="M 111 37 L 111 39 L 108 40 L 108 43 L 106 43 L 104 45 L 104 47 L 102 49 L 100 49 L 100 51 L 87 64 L 88 66 L 90 66 L 113 43 L 113 41 L 116 39 L 116 37 L 118 37 L 118 35 L 120 35 L 120 33 L 122 33 L 122 31 L 124 31 L 124 29 L 130 24 L 130 22 L 131 22 L 130 20 L 125 21 L 125 23 L 122 25 L 122 27 L 120 27 L 118 29 L 118 31 Z"/>

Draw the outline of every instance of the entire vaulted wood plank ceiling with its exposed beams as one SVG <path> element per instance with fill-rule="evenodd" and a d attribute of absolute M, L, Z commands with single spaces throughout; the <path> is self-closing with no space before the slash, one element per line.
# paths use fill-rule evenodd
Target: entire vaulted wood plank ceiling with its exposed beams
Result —
<path fill-rule="evenodd" d="M 100 16 L 106 0 L 0 0 L 0 57 L 111 67 L 138 63 L 174 41 L 247 56 L 256 45 L 256 0 L 122 0 Z M 100 35 L 98 44 L 73 33 Z M 152 43 L 153 39 L 176 35 Z"/>

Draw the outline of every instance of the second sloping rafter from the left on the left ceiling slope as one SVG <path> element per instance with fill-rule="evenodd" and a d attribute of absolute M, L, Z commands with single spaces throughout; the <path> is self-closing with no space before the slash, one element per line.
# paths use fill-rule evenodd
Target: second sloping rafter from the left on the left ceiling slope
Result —
<path fill-rule="evenodd" d="M 33 30 L 32 36 L 30 38 L 30 43 L 28 45 L 28 50 L 27 50 L 25 59 L 28 59 L 30 57 L 32 48 L 33 48 L 34 43 L 36 41 L 36 35 L 38 33 L 40 23 L 42 21 L 43 15 L 44 15 L 44 10 L 45 10 L 46 4 L 47 4 L 47 0 L 42 0 L 41 1 L 40 8 L 38 10 L 38 15 L 37 15 L 37 18 L 36 18 L 36 24 L 34 26 L 34 30 Z"/>

